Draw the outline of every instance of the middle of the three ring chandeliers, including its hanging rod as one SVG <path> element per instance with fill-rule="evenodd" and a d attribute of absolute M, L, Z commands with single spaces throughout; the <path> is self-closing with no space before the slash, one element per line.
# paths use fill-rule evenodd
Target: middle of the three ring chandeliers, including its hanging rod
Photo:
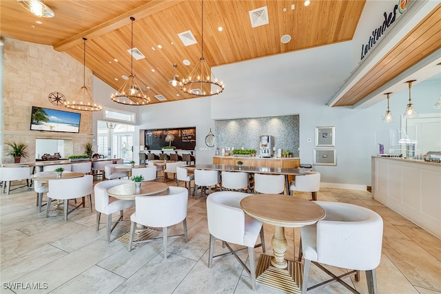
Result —
<path fill-rule="evenodd" d="M 132 57 L 130 59 L 130 76 L 128 76 L 121 88 L 119 88 L 115 94 L 112 94 L 112 101 L 124 105 L 140 106 L 150 103 L 150 98 L 147 98 L 143 90 L 141 90 L 140 84 L 136 79 L 136 76 L 133 74 L 133 22 L 135 18 L 130 17 L 130 20 L 132 21 L 132 54 L 130 54 Z"/>

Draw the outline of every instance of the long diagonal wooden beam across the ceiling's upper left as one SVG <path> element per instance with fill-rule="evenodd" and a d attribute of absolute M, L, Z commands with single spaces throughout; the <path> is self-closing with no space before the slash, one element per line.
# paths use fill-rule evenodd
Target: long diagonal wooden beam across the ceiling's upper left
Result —
<path fill-rule="evenodd" d="M 67 39 L 57 45 L 54 45 L 54 50 L 59 52 L 66 51 L 76 45 L 80 45 L 83 43 L 83 37 L 88 39 L 94 39 L 108 32 L 112 32 L 117 30 L 124 25 L 130 23 L 130 17 L 134 17 L 135 19 L 143 19 L 144 17 L 148 17 L 156 12 L 160 12 L 161 10 L 165 10 L 170 8 L 178 3 L 183 2 L 184 0 L 152 0 L 149 3 L 145 3 L 143 6 L 139 6 L 134 10 L 130 10 L 125 14 L 121 14 L 119 17 L 115 17 L 114 19 L 110 19 L 110 21 L 106 21 L 105 23 L 101 23 L 101 25 L 97 25 L 94 28 L 90 28 L 90 30 L 86 30 L 85 32 L 81 32 L 80 34 L 76 34 L 76 36 L 72 36 L 72 38 Z"/>

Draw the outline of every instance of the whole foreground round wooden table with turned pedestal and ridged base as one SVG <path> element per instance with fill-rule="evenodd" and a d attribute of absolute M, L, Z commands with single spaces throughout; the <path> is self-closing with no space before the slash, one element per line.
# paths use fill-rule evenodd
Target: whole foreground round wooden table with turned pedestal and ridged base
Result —
<path fill-rule="evenodd" d="M 271 239 L 274 255 L 260 255 L 256 282 L 287 293 L 301 293 L 302 264 L 285 258 L 285 227 L 315 224 L 325 218 L 325 210 L 309 200 L 280 194 L 248 196 L 240 201 L 240 207 L 256 220 L 274 225 L 274 236 Z"/>

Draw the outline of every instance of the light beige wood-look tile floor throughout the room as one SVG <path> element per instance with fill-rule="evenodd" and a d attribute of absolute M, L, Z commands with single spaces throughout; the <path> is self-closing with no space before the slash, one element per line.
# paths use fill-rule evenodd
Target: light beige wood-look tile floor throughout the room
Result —
<path fill-rule="evenodd" d="M 307 193 L 296 195 L 309 198 Z M 80 209 L 71 213 L 67 222 L 63 216 L 45 218 L 45 213 L 37 213 L 35 198 L 33 189 L 26 187 L 12 191 L 9 196 L 0 195 L 0 293 L 254 293 L 249 275 L 232 255 L 215 260 L 211 269 L 207 267 L 209 233 L 205 198 L 189 198 L 189 241 L 170 238 L 165 261 L 162 240 L 128 252 L 121 242 L 107 244 L 104 227 L 96 231 L 95 213 Z M 318 199 L 358 204 L 382 216 L 382 260 L 376 271 L 379 293 L 441 293 L 441 240 L 371 199 L 367 191 L 322 188 Z M 132 211 L 126 211 L 125 218 Z M 182 224 L 173 228 L 179 231 Z M 119 225 L 112 237 L 128 230 L 128 222 Z M 295 251 L 293 229 L 285 233 L 287 257 L 293 258 L 298 254 L 300 232 L 296 229 L 294 233 Z M 269 252 L 272 235 L 273 228 L 265 225 Z M 215 253 L 223 250 L 216 241 Z M 256 249 L 256 260 L 260 253 L 262 249 Z M 241 256 L 247 258 L 247 251 Z M 314 265 L 311 277 L 311 283 L 327 279 Z M 14 282 L 14 289 L 8 288 Z M 360 282 L 349 278 L 347 282 L 367 293 L 364 273 Z M 26 283 L 34 283 L 40 290 L 30 290 L 30 284 Z M 283 292 L 257 284 L 256 293 Z M 308 293 L 349 291 L 334 283 Z"/>

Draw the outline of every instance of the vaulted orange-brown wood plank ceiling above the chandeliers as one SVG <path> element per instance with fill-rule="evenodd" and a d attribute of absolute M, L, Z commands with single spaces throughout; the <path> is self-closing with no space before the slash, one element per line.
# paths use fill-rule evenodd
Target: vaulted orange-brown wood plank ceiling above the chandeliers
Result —
<path fill-rule="evenodd" d="M 39 19 L 16 0 L 2 0 L 1 36 L 52 45 L 81 63 L 82 38 L 88 38 L 86 66 L 119 89 L 122 76 L 130 75 L 127 50 L 131 48 L 130 17 L 135 17 L 133 46 L 146 56 L 133 60 L 133 73 L 141 81 L 141 89 L 152 103 L 159 102 L 153 97 L 158 94 L 167 101 L 194 98 L 168 81 L 174 74 L 174 63 L 176 74 L 183 78 L 201 57 L 201 1 L 46 0 L 45 4 L 54 11 L 54 18 Z M 291 4 L 295 5 L 294 10 Z M 249 10 L 264 6 L 269 24 L 252 28 Z M 303 0 L 205 0 L 203 54 L 214 67 L 347 41 L 353 37 L 364 6 L 364 0 L 311 1 L 307 7 Z M 178 34 L 188 30 L 198 43 L 183 44 Z M 291 35 L 286 44 L 280 42 L 285 34 Z M 191 65 L 183 65 L 184 59 Z"/>

